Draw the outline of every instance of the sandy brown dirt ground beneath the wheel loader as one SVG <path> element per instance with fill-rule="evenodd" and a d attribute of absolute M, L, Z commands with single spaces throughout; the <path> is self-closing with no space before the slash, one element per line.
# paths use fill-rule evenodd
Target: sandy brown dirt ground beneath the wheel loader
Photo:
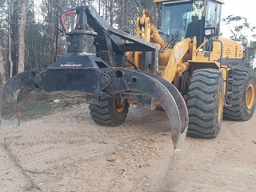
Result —
<path fill-rule="evenodd" d="M 163 111 L 130 107 L 118 127 L 86 104 L 0 131 L 0 191 L 256 191 L 256 115 L 174 151 Z"/>

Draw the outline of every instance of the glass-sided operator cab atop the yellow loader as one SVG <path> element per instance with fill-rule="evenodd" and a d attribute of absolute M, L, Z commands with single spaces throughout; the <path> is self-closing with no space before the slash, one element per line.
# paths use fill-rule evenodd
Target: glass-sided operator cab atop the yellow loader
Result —
<path fill-rule="evenodd" d="M 222 0 L 179 0 L 162 2 L 162 32 L 170 42 L 182 37 L 197 38 L 199 46 L 204 37 L 218 37 Z"/>

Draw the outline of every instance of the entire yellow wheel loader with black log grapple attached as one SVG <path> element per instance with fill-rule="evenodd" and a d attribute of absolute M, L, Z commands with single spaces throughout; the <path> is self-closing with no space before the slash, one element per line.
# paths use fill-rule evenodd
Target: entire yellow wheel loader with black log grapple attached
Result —
<path fill-rule="evenodd" d="M 118 126 L 130 105 L 165 110 L 174 149 L 186 134 L 216 138 L 222 118 L 249 120 L 255 109 L 255 75 L 244 68 L 242 45 L 220 36 L 222 0 L 154 0 L 161 4 L 162 29 L 146 11 L 136 36 L 114 29 L 93 6 L 77 6 L 58 17 L 67 55 L 46 69 L 10 78 L 2 103 L 19 90 L 14 118 L 1 116 L 1 129 L 19 126 L 22 103 L 31 91 L 80 91 L 90 115 L 102 126 Z M 66 17 L 76 17 L 68 30 Z"/>

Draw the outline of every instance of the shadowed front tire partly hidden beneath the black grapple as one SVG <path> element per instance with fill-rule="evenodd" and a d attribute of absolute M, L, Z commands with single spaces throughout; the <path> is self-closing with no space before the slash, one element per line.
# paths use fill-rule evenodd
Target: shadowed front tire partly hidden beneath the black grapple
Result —
<path fill-rule="evenodd" d="M 90 104 L 90 116 L 98 125 L 119 126 L 127 117 L 129 104 L 117 107 L 117 98 L 99 98 L 98 105 Z"/>

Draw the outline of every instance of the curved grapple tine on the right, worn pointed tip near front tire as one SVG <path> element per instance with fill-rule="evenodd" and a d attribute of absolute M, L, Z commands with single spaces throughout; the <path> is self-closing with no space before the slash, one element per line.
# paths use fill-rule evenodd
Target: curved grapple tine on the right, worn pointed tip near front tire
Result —
<path fill-rule="evenodd" d="M 114 68 L 107 74 L 111 77 L 110 86 L 106 91 L 116 94 L 121 91 L 134 90 L 150 95 L 160 103 L 170 121 L 170 133 L 174 143 L 174 149 L 186 138 L 188 128 L 188 114 L 185 102 L 178 90 L 165 79 L 157 78 L 152 74 L 146 74 L 138 70 Z"/>

